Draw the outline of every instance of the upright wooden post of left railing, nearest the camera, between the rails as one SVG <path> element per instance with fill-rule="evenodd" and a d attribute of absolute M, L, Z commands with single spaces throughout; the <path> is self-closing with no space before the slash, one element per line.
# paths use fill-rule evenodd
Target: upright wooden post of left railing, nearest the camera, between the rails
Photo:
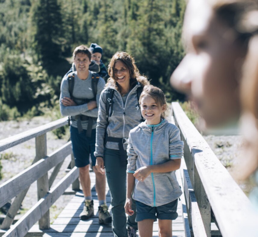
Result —
<path fill-rule="evenodd" d="M 36 161 L 44 158 L 47 155 L 47 135 L 43 134 L 35 138 L 36 139 Z M 43 175 L 37 181 L 38 186 L 38 200 L 44 197 L 48 191 L 48 173 Z M 49 210 L 39 219 L 39 229 L 50 228 Z"/>

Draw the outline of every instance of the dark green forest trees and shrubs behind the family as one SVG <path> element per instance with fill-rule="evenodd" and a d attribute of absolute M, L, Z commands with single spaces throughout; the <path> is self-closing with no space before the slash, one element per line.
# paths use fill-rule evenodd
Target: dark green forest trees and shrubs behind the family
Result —
<path fill-rule="evenodd" d="M 101 45 L 106 66 L 116 51 L 131 53 L 169 102 L 184 100 L 169 78 L 184 56 L 185 5 L 185 0 L 0 0 L 0 120 L 58 106 L 68 57 L 76 46 L 90 43 Z"/>

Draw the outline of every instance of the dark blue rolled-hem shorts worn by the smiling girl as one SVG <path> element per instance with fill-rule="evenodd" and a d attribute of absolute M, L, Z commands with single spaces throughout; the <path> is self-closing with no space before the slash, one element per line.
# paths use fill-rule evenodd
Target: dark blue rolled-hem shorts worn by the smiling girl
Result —
<path fill-rule="evenodd" d="M 136 218 L 135 221 L 141 221 L 145 219 L 158 219 L 160 220 L 175 220 L 178 217 L 177 200 L 169 202 L 167 204 L 151 207 L 142 202 L 135 201 L 136 204 Z"/>

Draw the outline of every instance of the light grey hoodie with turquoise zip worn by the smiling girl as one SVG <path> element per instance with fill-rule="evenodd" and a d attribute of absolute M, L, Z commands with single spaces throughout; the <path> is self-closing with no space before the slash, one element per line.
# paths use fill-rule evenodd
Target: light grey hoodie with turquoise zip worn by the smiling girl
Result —
<path fill-rule="evenodd" d="M 127 172 L 134 173 L 143 166 L 180 159 L 183 145 L 179 129 L 166 119 L 158 125 L 142 122 L 129 133 Z M 181 194 L 175 171 L 151 173 L 143 182 L 135 179 L 133 199 L 152 207 L 172 202 Z"/>

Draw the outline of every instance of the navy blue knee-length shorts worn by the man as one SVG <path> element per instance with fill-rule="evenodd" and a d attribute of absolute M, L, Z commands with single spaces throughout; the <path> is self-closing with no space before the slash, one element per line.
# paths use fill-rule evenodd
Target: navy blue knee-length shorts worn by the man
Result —
<path fill-rule="evenodd" d="M 73 148 L 73 155 L 75 160 L 75 166 L 84 167 L 89 165 L 89 155 L 91 154 L 92 166 L 96 164 L 96 157 L 94 156 L 95 151 L 95 140 L 96 140 L 96 129 L 92 129 L 92 136 L 86 136 L 86 130 L 83 129 L 81 133 L 78 132 L 77 128 L 70 126 L 71 141 Z"/>

